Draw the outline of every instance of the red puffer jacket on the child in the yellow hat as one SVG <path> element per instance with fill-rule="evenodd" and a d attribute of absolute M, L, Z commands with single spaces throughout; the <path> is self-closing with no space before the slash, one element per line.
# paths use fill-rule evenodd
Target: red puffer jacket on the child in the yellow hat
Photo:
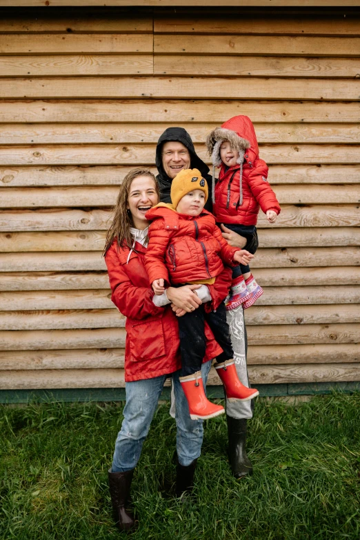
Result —
<path fill-rule="evenodd" d="M 146 213 L 147 219 L 154 220 L 145 257 L 150 283 L 161 278 L 174 284 L 209 279 L 223 272 L 222 261 L 228 266 L 237 264 L 233 257 L 239 248 L 232 248 L 223 239 L 210 212 L 203 210 L 194 217 L 170 207 L 160 203 Z M 213 288 L 210 294 L 214 294 L 214 309 L 226 297 L 218 298 Z"/>

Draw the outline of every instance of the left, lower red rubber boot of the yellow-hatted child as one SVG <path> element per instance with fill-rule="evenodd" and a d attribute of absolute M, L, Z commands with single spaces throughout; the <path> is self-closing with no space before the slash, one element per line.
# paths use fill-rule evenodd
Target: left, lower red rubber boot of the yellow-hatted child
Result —
<path fill-rule="evenodd" d="M 221 405 L 215 405 L 208 400 L 203 390 L 203 379 L 201 371 L 197 371 L 186 377 L 179 377 L 183 393 L 188 401 L 190 418 L 192 420 L 206 420 L 208 418 L 218 417 L 223 414 L 225 409 Z"/>

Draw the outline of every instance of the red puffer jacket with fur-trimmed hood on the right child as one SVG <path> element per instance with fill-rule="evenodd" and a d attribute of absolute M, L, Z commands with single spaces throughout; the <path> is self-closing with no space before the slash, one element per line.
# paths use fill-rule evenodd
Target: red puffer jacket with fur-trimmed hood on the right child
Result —
<path fill-rule="evenodd" d="M 219 149 L 225 140 L 230 140 L 232 148 L 237 148 L 243 156 L 242 179 L 240 163 L 226 170 L 221 162 Z M 264 213 L 268 210 L 280 213 L 279 202 L 267 180 L 268 166 L 259 159 L 257 136 L 250 118 L 240 115 L 226 121 L 209 135 L 207 144 L 214 165 L 221 164 L 213 210 L 218 223 L 256 225 L 259 208 Z"/>

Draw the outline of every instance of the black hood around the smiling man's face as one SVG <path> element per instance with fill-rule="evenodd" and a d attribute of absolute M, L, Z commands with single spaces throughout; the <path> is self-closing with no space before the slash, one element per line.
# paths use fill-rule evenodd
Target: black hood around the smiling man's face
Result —
<path fill-rule="evenodd" d="M 163 169 L 163 160 L 161 159 L 161 149 L 163 146 L 163 143 L 166 143 L 168 141 L 179 141 L 179 143 L 182 143 L 183 146 L 186 146 L 188 148 L 188 151 L 190 153 L 190 167 L 192 169 L 199 169 L 201 174 L 203 175 L 206 180 L 211 181 L 211 177 L 209 174 L 209 168 L 206 165 L 206 163 L 203 162 L 202 159 L 199 158 L 197 153 L 194 149 L 194 144 L 192 143 L 191 137 L 188 134 L 186 130 L 183 128 L 168 128 L 163 132 L 163 134 L 160 136 L 159 141 L 157 141 L 157 156 L 156 156 L 156 166 L 157 170 L 159 171 L 159 174 L 157 175 L 157 181 L 159 183 L 159 188 L 161 192 L 161 201 L 165 203 L 170 203 L 170 188 L 172 179 L 168 177 L 168 174 L 166 174 L 165 170 Z M 209 186 L 209 192 L 211 193 L 211 186 Z M 209 197 L 211 199 L 211 197 Z"/>

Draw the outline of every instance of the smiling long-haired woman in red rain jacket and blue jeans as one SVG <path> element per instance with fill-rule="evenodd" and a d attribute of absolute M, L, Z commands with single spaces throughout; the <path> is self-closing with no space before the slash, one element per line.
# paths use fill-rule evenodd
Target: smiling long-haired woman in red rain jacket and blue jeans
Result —
<path fill-rule="evenodd" d="M 186 312 L 198 308 L 201 299 L 194 290 L 199 286 L 170 287 L 166 292 L 168 304 L 157 307 L 152 301 L 154 293 L 143 264 L 149 225 L 145 214 L 158 202 L 159 188 L 154 175 L 144 169 L 131 170 L 121 184 L 104 249 L 112 301 L 127 317 L 126 406 L 108 472 L 115 521 L 121 530 L 134 526 L 134 516 L 126 508 L 132 476 L 169 375 L 174 384 L 177 408 L 177 497 L 192 489 L 203 439 L 202 422 L 190 419 L 188 403 L 179 382 L 179 329 L 170 307 L 172 302 Z M 221 349 L 209 328 L 206 335 L 206 360 L 211 360 Z M 210 364 L 210 361 L 203 363 L 204 381 Z"/>

